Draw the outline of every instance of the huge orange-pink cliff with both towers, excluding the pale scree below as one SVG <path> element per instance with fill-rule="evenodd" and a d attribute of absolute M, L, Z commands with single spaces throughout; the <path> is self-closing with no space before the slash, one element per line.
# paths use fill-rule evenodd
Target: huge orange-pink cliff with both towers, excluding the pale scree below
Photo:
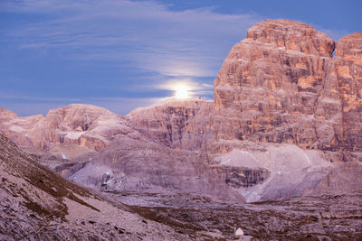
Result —
<path fill-rule="evenodd" d="M 342 38 L 332 57 L 334 42 L 309 25 L 254 25 L 214 81 L 214 138 L 361 151 L 361 40 Z"/>

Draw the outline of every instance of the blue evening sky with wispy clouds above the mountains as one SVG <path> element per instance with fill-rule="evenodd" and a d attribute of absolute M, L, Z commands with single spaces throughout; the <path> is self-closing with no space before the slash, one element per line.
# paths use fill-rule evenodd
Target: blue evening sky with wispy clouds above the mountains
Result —
<path fill-rule="evenodd" d="M 45 115 L 72 103 L 126 115 L 175 96 L 213 99 L 227 53 L 265 19 L 335 41 L 362 32 L 362 1 L 0 0 L 0 107 Z"/>

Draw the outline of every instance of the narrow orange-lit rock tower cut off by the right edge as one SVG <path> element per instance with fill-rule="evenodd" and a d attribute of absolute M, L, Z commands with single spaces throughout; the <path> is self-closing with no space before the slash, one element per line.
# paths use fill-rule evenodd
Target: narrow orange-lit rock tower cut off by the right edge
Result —
<path fill-rule="evenodd" d="M 328 81 L 338 82 L 341 123 L 338 145 L 347 151 L 362 151 L 362 33 L 337 43 Z M 337 132 L 336 132 L 337 133 Z"/>

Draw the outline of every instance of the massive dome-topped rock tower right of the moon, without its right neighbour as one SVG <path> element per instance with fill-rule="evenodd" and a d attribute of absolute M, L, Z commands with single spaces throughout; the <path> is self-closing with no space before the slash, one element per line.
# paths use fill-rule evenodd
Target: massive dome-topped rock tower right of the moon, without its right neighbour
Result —
<path fill-rule="evenodd" d="M 222 125 L 216 118 L 214 138 L 316 144 L 313 114 L 333 50 L 326 34 L 306 24 L 250 28 L 214 80 L 216 115 L 233 120 Z"/>

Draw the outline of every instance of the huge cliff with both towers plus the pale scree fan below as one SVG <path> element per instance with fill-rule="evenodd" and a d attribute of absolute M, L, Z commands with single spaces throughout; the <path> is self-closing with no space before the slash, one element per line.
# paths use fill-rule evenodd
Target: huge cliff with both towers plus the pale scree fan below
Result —
<path fill-rule="evenodd" d="M 214 80 L 208 153 L 225 180 L 270 171 L 238 184 L 252 183 L 248 201 L 360 190 L 360 164 L 330 162 L 362 161 L 361 36 L 341 38 L 333 57 L 326 34 L 267 20 L 233 46 Z"/>

